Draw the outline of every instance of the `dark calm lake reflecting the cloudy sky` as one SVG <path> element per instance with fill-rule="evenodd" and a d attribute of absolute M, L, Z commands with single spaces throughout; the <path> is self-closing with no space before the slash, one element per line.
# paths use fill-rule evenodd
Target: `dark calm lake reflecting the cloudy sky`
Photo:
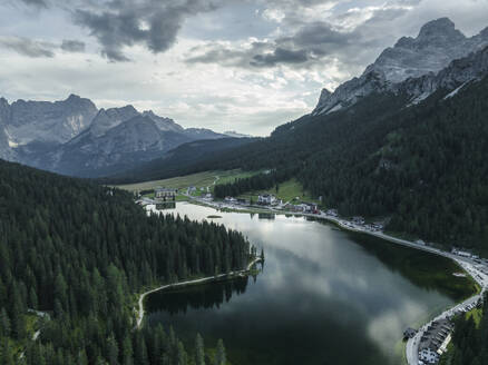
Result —
<path fill-rule="evenodd" d="M 205 219 L 215 210 L 177 204 Z M 153 294 L 149 325 L 192 348 L 223 338 L 233 365 L 402 364 L 402 332 L 471 293 L 450 260 L 301 217 L 218 213 L 264 247 L 255 278 Z"/>

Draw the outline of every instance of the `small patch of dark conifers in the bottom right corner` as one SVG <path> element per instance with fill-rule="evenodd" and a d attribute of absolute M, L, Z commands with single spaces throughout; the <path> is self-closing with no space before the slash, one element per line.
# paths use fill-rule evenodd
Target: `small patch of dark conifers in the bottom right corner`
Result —
<path fill-rule="evenodd" d="M 482 317 L 479 326 L 472 316 L 459 316 L 455 320 L 452 346 L 441 357 L 440 365 L 488 364 L 488 295 L 485 295 Z"/>

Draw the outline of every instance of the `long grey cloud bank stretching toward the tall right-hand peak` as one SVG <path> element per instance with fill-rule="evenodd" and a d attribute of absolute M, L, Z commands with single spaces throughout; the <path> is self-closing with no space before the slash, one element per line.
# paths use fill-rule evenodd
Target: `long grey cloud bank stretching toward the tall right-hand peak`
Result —
<path fill-rule="evenodd" d="M 313 7 L 326 2 L 319 0 L 284 1 L 287 6 L 294 3 L 303 7 Z M 357 27 L 349 29 L 333 27 L 326 21 L 308 22 L 306 19 L 297 20 L 296 13 L 292 12 L 290 16 L 286 14 L 281 23 L 282 29 L 289 30 L 286 36 L 266 42 L 254 42 L 244 49 L 236 49 L 222 43 L 208 43 L 206 47 L 191 50 L 186 62 L 219 63 L 251 69 L 287 65 L 303 69 L 335 59 L 354 68 L 363 65 L 364 58 L 370 59 L 370 55 L 378 51 L 375 47 L 383 47 L 381 41 L 384 40 L 385 36 L 384 24 L 401 17 L 408 10 L 401 7 L 385 6 L 384 8 L 361 9 L 361 11 L 370 12 L 368 20 L 357 21 L 354 19 L 358 18 L 359 10 L 335 17 L 336 21 L 358 22 Z M 256 45 L 260 45 L 260 47 Z"/>

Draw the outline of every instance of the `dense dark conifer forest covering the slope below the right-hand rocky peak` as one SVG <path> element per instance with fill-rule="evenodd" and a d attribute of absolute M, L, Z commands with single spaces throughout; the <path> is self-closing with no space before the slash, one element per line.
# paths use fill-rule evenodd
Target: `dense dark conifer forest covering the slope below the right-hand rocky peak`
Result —
<path fill-rule="evenodd" d="M 390 230 L 488 253 L 488 79 L 447 93 L 408 107 L 402 95 L 371 95 L 199 168 L 293 170 L 343 215 L 391 216 Z M 223 190 L 242 193 L 246 184 Z"/>

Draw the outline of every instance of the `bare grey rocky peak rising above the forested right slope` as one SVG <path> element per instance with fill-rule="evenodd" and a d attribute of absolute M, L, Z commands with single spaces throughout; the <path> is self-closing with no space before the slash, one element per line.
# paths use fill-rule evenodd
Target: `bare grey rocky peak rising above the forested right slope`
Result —
<path fill-rule="evenodd" d="M 426 23 L 417 38 L 403 37 L 387 48 L 359 78 L 339 86 L 334 92 L 323 89 L 313 115 L 329 114 L 349 107 L 359 99 L 382 91 L 396 91 L 399 83 L 426 75 L 435 76 L 452 60 L 488 46 L 488 28 L 467 38 L 448 18 Z M 412 89 L 413 90 L 413 89 Z M 412 99 L 424 93 L 412 93 Z"/>

